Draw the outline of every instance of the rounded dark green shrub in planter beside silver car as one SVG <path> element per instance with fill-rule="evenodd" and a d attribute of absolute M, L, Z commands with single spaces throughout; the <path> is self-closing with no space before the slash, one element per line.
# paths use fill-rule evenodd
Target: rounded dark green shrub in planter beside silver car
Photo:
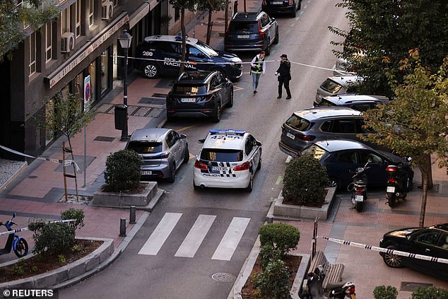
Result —
<path fill-rule="evenodd" d="M 125 192 L 140 184 L 143 161 L 135 151 L 122 150 L 110 154 L 106 160 L 105 191 Z"/>

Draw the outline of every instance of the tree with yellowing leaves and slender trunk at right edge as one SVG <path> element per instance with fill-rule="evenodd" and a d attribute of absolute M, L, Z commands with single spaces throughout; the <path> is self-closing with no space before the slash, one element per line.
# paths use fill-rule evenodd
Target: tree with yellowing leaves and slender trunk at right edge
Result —
<path fill-rule="evenodd" d="M 410 58 L 401 61 L 399 70 L 387 74 L 396 99 L 365 112 L 365 126 L 376 133 L 362 136 L 362 140 L 413 158 L 422 174 L 420 226 L 424 226 L 428 187 L 432 187 L 428 184 L 431 154 L 436 153 L 439 167 L 448 165 L 448 57 L 432 74 L 416 50 L 410 53 Z M 396 80 L 399 71 L 407 73 L 404 83 Z"/>

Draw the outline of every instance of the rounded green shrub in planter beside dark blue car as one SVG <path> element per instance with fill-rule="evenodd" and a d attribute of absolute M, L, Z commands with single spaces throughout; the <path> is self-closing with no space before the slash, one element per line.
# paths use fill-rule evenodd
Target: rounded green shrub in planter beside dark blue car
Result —
<path fill-rule="evenodd" d="M 283 177 L 282 196 L 295 204 L 324 204 L 326 168 L 310 155 L 290 160 Z"/>

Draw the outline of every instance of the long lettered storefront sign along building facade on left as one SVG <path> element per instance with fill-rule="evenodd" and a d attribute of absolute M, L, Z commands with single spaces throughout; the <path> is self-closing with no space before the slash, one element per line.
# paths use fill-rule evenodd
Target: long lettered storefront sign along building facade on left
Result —
<path fill-rule="evenodd" d="M 100 33 L 99 37 L 94 37 L 93 42 L 90 42 L 90 44 L 87 45 L 87 47 L 84 47 L 81 49 L 81 52 L 79 54 L 76 54 L 75 57 L 69 61 L 63 69 L 57 71 L 57 74 L 50 75 L 47 79 L 49 81 L 49 88 L 53 88 L 56 83 L 58 83 L 61 78 L 64 78 L 66 74 L 69 74 L 69 72 L 75 68 L 81 61 L 86 59 L 90 53 L 92 53 L 95 49 L 100 47 L 100 45 L 105 42 L 109 37 L 111 37 L 114 33 L 119 30 L 119 28 L 122 27 L 126 22 L 129 21 L 129 16 L 126 13 L 126 16 L 124 16 L 122 19 L 120 19 L 117 23 L 112 25 L 111 28 L 109 28 L 105 33 Z"/>

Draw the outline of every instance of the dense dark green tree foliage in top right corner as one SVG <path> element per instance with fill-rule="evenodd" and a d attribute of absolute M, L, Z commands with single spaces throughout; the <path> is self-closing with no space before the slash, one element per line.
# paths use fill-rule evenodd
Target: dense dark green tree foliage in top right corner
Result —
<path fill-rule="evenodd" d="M 364 93 L 393 96 L 386 73 L 399 68 L 408 49 L 419 49 L 421 63 L 431 71 L 448 55 L 446 0 L 341 0 L 336 6 L 348 9 L 350 30 L 329 27 L 343 37 L 343 42 L 331 44 L 343 46 L 343 51 L 334 52 L 365 79 Z M 397 77 L 400 83 L 403 76 Z"/>

